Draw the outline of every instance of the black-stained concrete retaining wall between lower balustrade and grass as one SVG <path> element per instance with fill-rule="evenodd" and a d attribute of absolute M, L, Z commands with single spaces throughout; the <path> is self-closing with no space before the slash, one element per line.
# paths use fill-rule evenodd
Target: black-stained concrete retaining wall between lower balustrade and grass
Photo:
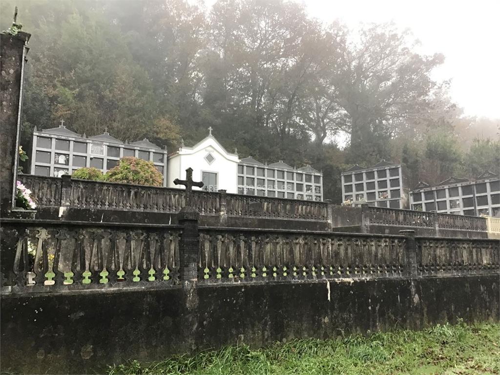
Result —
<path fill-rule="evenodd" d="M 499 286 L 491 274 L 2 295 L 2 371 L 102 373 L 237 342 L 498 321 Z"/>

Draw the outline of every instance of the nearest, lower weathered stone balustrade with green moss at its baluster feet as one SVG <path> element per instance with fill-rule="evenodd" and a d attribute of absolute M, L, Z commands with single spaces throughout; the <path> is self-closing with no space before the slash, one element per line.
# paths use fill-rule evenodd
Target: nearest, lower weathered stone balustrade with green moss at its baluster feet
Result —
<path fill-rule="evenodd" d="M 179 282 L 182 226 L 4 219 L 4 292 L 165 287 Z M 201 283 L 498 273 L 499 242 L 200 227 Z M 407 241 L 410 242 L 407 242 Z M 410 244 L 416 241 L 416 257 Z M 187 242 L 186 242 L 187 243 Z M 196 270 L 197 268 L 197 270 Z"/>

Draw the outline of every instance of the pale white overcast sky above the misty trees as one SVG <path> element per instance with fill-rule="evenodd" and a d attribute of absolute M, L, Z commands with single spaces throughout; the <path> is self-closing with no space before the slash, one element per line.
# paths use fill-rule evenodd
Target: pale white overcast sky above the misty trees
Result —
<path fill-rule="evenodd" d="M 210 6 L 215 0 L 205 0 Z M 465 114 L 500 118 L 500 0 L 303 0 L 310 15 L 349 28 L 393 21 L 441 52 L 435 78 L 451 79 L 451 98 Z"/>

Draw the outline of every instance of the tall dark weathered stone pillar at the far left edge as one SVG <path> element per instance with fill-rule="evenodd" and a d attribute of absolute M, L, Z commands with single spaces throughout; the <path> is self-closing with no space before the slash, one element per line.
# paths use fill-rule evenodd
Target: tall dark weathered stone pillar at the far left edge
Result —
<path fill-rule="evenodd" d="M 0 33 L 0 211 L 8 214 L 14 202 L 21 124 L 24 61 L 30 34 L 14 23 Z M 33 155 L 30 155 L 33 157 Z"/>

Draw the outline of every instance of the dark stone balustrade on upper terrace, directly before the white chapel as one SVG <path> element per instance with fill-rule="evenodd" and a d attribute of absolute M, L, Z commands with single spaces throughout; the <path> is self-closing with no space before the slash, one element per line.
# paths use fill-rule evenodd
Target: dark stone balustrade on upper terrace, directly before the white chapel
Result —
<path fill-rule="evenodd" d="M 177 213 L 183 189 L 20 174 L 40 207 Z M 325 202 L 193 191 L 201 215 L 327 221 Z"/>

